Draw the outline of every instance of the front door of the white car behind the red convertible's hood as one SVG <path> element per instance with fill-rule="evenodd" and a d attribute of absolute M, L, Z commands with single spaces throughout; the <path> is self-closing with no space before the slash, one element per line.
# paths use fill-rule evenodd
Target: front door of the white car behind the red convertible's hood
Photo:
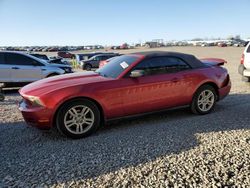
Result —
<path fill-rule="evenodd" d="M 11 65 L 13 82 L 33 82 L 42 78 L 42 64 L 35 59 L 18 53 L 6 53 L 6 62 Z"/>

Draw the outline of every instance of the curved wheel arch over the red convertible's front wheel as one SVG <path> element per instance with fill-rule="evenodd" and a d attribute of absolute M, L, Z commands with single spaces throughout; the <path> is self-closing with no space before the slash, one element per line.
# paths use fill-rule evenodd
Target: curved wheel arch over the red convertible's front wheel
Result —
<path fill-rule="evenodd" d="M 61 103 L 57 107 L 57 109 L 56 109 L 56 111 L 55 111 L 55 113 L 53 115 L 53 125 L 52 126 L 54 127 L 56 125 L 57 114 L 58 114 L 59 110 L 63 107 L 63 105 L 65 105 L 66 103 L 72 102 L 74 100 L 81 100 L 81 99 L 87 99 L 87 100 L 93 102 L 97 106 L 97 108 L 100 111 L 101 124 L 103 125 L 104 122 L 105 122 L 105 113 L 104 113 L 104 110 L 103 110 L 103 107 L 101 106 L 101 104 L 98 101 L 96 101 L 95 99 L 93 99 L 93 98 L 80 96 L 80 97 L 73 97 L 73 98 L 67 99 L 66 101 L 64 101 L 63 103 Z"/>

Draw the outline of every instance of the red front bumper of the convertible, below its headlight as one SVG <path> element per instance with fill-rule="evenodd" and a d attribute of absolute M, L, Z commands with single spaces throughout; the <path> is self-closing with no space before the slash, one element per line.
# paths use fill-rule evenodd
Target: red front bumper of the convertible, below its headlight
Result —
<path fill-rule="evenodd" d="M 40 129 L 50 129 L 52 127 L 52 110 L 41 106 L 31 107 L 25 100 L 19 103 L 19 110 L 28 125 Z"/>

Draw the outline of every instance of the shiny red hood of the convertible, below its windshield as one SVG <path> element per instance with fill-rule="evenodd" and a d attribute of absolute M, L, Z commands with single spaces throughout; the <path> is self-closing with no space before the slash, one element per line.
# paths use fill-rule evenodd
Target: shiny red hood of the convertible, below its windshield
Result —
<path fill-rule="evenodd" d="M 19 90 L 19 93 L 25 95 L 42 96 L 59 89 L 66 89 L 74 86 L 83 86 L 91 83 L 108 81 L 111 78 L 102 77 L 99 74 L 89 71 L 72 74 L 64 74 L 45 78 L 31 84 L 28 84 Z"/>

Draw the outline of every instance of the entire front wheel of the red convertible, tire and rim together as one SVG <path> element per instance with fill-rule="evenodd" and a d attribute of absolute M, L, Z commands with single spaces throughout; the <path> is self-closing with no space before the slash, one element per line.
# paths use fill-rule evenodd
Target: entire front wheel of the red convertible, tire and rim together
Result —
<path fill-rule="evenodd" d="M 70 138 L 83 138 L 100 126 L 100 111 L 90 100 L 79 99 L 66 103 L 58 111 L 57 129 Z"/>

